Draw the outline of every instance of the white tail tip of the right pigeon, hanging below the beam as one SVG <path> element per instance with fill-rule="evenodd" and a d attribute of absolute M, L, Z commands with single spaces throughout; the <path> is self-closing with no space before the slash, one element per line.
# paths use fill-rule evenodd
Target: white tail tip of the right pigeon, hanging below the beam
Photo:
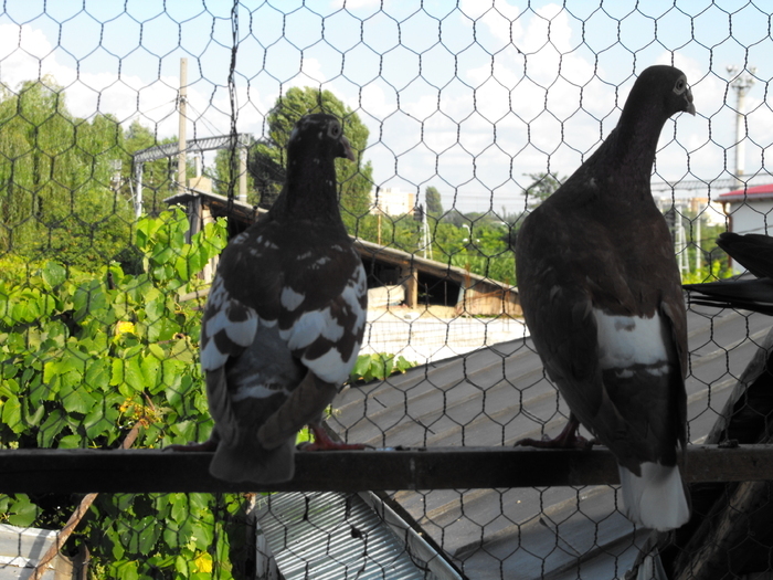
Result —
<path fill-rule="evenodd" d="M 690 507 L 679 466 L 645 462 L 638 477 L 618 466 L 625 515 L 645 528 L 667 531 L 690 519 Z"/>

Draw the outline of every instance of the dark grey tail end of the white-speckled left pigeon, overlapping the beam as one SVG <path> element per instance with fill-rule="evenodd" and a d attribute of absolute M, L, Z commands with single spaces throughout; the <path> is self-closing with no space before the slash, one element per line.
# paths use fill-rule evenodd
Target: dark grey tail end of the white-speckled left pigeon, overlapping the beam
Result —
<path fill-rule="evenodd" d="M 295 475 L 295 437 L 266 451 L 260 445 L 218 445 L 210 474 L 232 483 L 275 484 L 288 482 Z"/>

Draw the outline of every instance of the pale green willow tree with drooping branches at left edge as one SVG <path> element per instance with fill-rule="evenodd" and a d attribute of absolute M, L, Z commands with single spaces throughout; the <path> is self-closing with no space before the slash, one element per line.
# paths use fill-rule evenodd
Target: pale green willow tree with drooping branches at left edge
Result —
<path fill-rule="evenodd" d="M 0 89 L 0 252 L 91 268 L 128 243 L 130 207 L 114 187 L 118 122 L 73 117 L 44 76 Z"/>

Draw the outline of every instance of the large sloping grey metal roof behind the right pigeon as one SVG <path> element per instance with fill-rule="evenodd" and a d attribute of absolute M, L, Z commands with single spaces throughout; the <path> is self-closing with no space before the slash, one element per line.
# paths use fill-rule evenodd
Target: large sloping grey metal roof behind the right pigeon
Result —
<path fill-rule="evenodd" d="M 701 443 L 737 384 L 769 317 L 688 310 L 689 435 Z M 557 434 L 568 408 L 529 338 L 501 342 L 349 388 L 331 426 L 374 446 L 497 446 Z M 614 486 L 392 494 L 468 578 L 622 577 L 645 538 L 617 510 Z"/>

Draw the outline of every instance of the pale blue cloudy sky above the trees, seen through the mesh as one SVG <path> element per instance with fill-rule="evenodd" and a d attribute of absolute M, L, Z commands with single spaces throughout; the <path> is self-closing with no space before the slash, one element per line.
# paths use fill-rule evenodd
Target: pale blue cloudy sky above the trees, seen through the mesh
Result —
<path fill-rule="evenodd" d="M 241 2 L 235 21 L 232 2 L 209 0 L 4 7 L 0 82 L 11 89 L 50 75 L 74 115 L 109 113 L 172 137 L 184 56 L 188 138 L 222 135 L 235 50 L 240 133 L 263 136 L 293 86 L 329 89 L 370 129 L 364 158 L 379 187 L 434 186 L 446 210 L 463 212 L 522 211 L 529 175 L 571 175 L 652 64 L 686 73 L 698 112 L 664 127 L 654 181 L 730 177 L 738 93 L 727 67 L 754 68 L 743 169 L 753 183 L 773 181 L 773 8 L 752 2 L 275 0 Z"/>

